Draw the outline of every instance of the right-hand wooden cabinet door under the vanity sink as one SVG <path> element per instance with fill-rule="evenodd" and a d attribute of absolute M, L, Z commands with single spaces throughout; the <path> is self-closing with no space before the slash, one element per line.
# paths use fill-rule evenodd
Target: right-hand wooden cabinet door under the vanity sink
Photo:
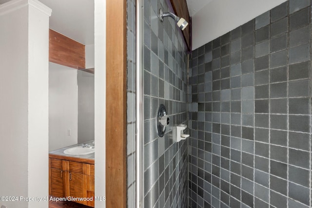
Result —
<path fill-rule="evenodd" d="M 69 172 L 69 196 L 75 198 L 87 197 L 86 175 L 77 172 Z M 87 204 L 87 201 L 83 200 L 77 200 L 75 202 L 84 205 Z"/>

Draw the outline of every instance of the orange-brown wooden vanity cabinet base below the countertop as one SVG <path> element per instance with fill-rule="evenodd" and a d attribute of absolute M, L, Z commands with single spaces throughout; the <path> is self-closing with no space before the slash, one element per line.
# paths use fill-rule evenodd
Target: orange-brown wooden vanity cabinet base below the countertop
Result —
<path fill-rule="evenodd" d="M 94 199 L 94 164 L 49 158 L 49 194 L 57 197 Z M 94 201 L 75 201 L 94 207 Z"/>

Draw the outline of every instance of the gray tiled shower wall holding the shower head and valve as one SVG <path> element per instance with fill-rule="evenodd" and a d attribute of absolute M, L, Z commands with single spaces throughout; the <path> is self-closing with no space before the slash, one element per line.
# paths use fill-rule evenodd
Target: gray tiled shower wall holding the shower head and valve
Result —
<path fill-rule="evenodd" d="M 135 207 L 135 1 L 127 22 L 127 207 Z M 160 22 L 166 0 L 144 0 L 144 207 L 187 206 L 187 142 L 173 143 L 173 126 L 187 121 L 187 48 L 172 19 Z M 170 126 L 158 137 L 156 113 L 164 104 Z"/>

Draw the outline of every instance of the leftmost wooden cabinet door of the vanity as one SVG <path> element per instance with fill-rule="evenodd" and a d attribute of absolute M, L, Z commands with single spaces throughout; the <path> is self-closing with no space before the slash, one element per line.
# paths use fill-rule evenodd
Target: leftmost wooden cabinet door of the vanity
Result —
<path fill-rule="evenodd" d="M 62 160 L 58 159 L 49 159 L 49 194 L 57 197 L 65 196 L 64 187 L 63 187 L 63 171 L 62 171 Z"/>

